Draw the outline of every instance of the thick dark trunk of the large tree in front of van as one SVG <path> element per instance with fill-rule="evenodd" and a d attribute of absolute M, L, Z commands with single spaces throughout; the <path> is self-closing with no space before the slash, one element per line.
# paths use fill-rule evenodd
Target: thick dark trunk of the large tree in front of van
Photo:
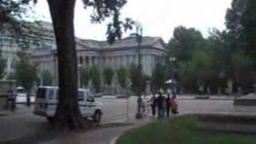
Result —
<path fill-rule="evenodd" d="M 75 0 L 47 0 L 58 47 L 58 107 L 54 125 L 82 128 L 78 108 L 78 66 L 74 39 Z"/>

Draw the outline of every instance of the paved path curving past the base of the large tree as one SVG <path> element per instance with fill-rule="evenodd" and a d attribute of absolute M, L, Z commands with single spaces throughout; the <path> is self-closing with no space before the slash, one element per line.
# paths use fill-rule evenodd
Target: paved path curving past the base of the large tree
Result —
<path fill-rule="evenodd" d="M 151 122 L 150 118 L 136 120 L 130 114 L 129 121 L 102 123 L 82 132 L 66 132 L 52 130 L 45 118 L 32 114 L 33 107 L 19 106 L 19 109 L 0 117 L 0 143 L 8 144 L 108 144 L 114 137 L 126 130 Z M 6 113 L 6 112 L 5 112 Z M 2 111 L 2 114 L 5 114 Z M 1 113 L 0 113 L 1 114 Z"/>

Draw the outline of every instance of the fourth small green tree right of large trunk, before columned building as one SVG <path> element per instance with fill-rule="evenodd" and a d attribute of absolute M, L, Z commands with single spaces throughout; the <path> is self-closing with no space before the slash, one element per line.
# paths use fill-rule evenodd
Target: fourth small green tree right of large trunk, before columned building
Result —
<path fill-rule="evenodd" d="M 128 72 L 126 67 L 122 66 L 117 70 L 117 75 L 118 75 L 118 82 L 119 85 L 122 88 L 126 88 L 127 86 L 127 76 L 128 76 Z"/>

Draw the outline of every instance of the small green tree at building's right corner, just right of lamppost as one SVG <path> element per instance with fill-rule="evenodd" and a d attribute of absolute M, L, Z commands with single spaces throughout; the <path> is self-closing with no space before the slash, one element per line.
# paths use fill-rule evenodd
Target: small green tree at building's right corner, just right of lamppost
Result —
<path fill-rule="evenodd" d="M 152 86 L 154 91 L 163 89 L 166 79 L 166 66 L 160 63 L 156 64 L 152 73 Z"/>

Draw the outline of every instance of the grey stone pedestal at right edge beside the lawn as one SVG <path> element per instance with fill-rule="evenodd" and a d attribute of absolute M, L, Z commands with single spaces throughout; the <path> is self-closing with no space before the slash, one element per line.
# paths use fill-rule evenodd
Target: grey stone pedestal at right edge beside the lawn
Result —
<path fill-rule="evenodd" d="M 198 114 L 200 128 L 256 134 L 256 94 L 234 99 L 234 110 L 227 114 Z"/>

